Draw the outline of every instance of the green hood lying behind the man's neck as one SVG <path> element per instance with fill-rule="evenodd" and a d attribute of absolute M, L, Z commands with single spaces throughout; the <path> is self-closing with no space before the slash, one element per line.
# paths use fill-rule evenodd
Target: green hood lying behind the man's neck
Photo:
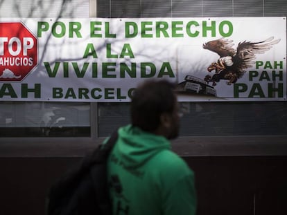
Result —
<path fill-rule="evenodd" d="M 137 168 L 159 151 L 171 149 L 171 143 L 162 135 L 142 131 L 128 125 L 119 129 L 119 138 L 113 153 L 128 168 Z"/>

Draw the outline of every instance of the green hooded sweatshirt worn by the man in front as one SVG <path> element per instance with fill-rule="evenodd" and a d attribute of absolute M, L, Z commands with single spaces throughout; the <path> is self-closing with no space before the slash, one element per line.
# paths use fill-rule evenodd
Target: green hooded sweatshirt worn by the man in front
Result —
<path fill-rule="evenodd" d="M 128 125 L 107 163 L 114 215 L 193 215 L 194 174 L 161 135 Z"/>

